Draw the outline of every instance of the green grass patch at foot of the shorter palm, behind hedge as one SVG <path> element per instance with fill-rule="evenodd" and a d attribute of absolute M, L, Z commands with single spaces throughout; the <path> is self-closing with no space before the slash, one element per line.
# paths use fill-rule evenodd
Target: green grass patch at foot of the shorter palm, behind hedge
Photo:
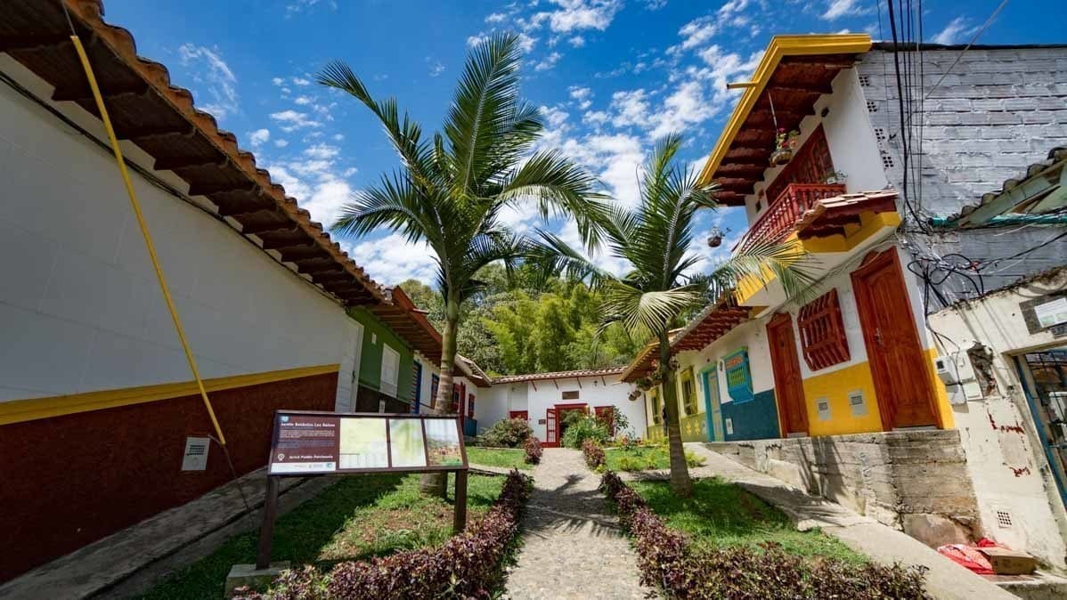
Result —
<path fill-rule="evenodd" d="M 784 513 L 718 477 L 694 480 L 691 498 L 671 493 L 667 482 L 631 482 L 667 525 L 688 533 L 697 546 L 755 547 L 777 541 L 806 557 L 835 557 L 862 564 L 866 557 L 819 532 L 799 532 Z"/>

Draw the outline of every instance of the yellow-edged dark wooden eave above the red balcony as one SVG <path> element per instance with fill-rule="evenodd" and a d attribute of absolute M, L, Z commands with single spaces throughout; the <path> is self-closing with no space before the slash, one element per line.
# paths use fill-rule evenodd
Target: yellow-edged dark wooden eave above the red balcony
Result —
<path fill-rule="evenodd" d="M 830 92 L 830 82 L 857 55 L 871 48 L 866 34 L 777 35 L 752 75 L 722 134 L 700 174 L 703 183 L 718 182 L 717 198 L 727 206 L 743 206 L 745 196 L 769 167 L 778 127 L 797 129 L 813 114 L 815 101 Z"/>

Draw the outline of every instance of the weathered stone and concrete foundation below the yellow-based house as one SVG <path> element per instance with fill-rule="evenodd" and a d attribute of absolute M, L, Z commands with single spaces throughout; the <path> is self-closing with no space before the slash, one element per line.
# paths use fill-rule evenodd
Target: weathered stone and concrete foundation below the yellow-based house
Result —
<path fill-rule="evenodd" d="M 710 449 L 937 547 L 978 535 L 959 433 L 713 442 Z"/>

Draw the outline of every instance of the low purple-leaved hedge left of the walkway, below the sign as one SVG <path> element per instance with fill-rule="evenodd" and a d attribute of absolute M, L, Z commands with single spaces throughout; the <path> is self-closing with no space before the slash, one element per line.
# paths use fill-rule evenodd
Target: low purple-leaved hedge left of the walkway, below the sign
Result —
<path fill-rule="evenodd" d="M 315 567 L 283 571 L 267 593 L 248 588 L 244 600 L 424 600 L 492 598 L 501 583 L 500 562 L 513 548 L 530 480 L 508 473 L 493 507 L 459 535 L 435 548 L 347 562 L 323 574 Z"/>

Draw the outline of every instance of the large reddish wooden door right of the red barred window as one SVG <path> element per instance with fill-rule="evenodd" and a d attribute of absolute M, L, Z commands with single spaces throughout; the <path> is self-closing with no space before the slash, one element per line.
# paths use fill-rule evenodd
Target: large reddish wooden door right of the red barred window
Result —
<path fill-rule="evenodd" d="M 869 256 L 853 290 L 882 427 L 941 426 L 896 250 Z"/>

